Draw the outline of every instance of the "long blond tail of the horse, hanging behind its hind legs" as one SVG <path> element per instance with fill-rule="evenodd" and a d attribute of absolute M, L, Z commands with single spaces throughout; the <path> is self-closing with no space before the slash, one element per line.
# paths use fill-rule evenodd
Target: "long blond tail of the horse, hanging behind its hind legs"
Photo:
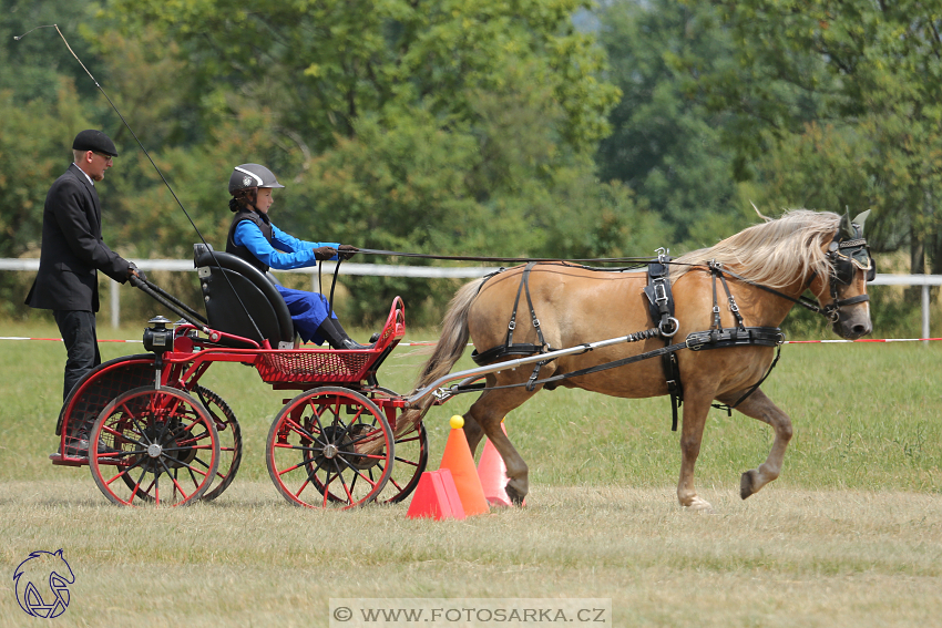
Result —
<path fill-rule="evenodd" d="M 481 279 L 465 284 L 451 299 L 451 302 L 448 305 L 448 312 L 446 312 L 444 320 L 442 320 L 441 337 L 436 343 L 431 358 L 422 367 L 412 393 L 449 373 L 454 363 L 464 353 L 464 349 L 468 346 L 468 338 L 470 337 L 468 312 L 471 310 L 471 305 L 478 297 L 484 279 L 482 277 Z M 432 401 L 433 399 L 428 397 L 416 408 L 403 412 L 397 422 L 397 435 L 408 432 L 409 428 L 421 421 L 432 404 Z"/>

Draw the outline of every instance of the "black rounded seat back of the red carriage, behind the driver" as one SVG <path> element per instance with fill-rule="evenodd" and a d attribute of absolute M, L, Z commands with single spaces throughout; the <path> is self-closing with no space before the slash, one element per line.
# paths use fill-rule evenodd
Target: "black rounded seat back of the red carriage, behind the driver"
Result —
<path fill-rule="evenodd" d="M 267 340 L 273 349 L 295 347 L 295 325 L 275 278 L 228 253 L 213 251 L 204 244 L 193 245 L 193 264 L 206 306 L 209 327 L 216 331 Z M 248 312 L 252 312 L 249 318 Z M 223 339 L 223 344 L 245 347 Z"/>

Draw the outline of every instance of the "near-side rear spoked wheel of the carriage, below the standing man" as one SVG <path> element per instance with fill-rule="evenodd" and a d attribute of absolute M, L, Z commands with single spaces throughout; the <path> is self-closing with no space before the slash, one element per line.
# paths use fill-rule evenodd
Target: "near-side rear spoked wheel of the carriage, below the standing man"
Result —
<path fill-rule="evenodd" d="M 127 391 L 109 403 L 89 437 L 92 478 L 124 506 L 180 506 L 216 477 L 219 437 L 198 401 L 162 387 Z"/>

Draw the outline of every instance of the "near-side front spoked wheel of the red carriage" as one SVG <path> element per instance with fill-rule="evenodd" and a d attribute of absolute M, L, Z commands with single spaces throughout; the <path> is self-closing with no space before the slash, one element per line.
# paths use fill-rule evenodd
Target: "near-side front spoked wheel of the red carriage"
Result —
<path fill-rule="evenodd" d="M 372 401 L 344 388 L 317 388 L 281 409 L 265 452 L 272 482 L 289 502 L 350 508 L 380 494 L 395 444 Z"/>

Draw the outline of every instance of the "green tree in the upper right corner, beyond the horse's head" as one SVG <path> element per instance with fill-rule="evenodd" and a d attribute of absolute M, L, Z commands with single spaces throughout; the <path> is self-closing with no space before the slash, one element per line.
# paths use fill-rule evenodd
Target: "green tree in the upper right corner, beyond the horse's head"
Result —
<path fill-rule="evenodd" d="M 749 68 L 769 85 L 809 94 L 815 104 L 813 117 L 820 123 L 805 126 L 808 120 L 800 112 L 777 106 L 768 94 L 759 94 L 764 106 L 784 120 L 774 138 L 784 138 L 780 131 L 786 130 L 809 134 L 802 141 L 807 146 L 836 148 L 816 151 L 817 158 L 808 164 L 792 162 L 798 167 L 792 171 L 796 177 L 848 191 L 848 200 L 859 203 L 857 210 L 874 209 L 868 222 L 874 244 L 892 248 L 908 243 L 913 272 L 922 272 L 924 255 L 933 271 L 942 270 L 938 236 L 942 213 L 935 209 L 942 192 L 942 18 L 938 10 L 918 0 L 719 0 L 715 6 L 733 34 L 740 72 Z M 711 81 L 704 85 L 723 106 L 735 109 L 741 92 L 715 76 Z M 791 142 L 786 140 L 775 150 Z M 821 159 L 829 162 L 835 175 L 829 182 L 809 176 Z M 858 192 L 856 185 L 861 185 Z"/>

